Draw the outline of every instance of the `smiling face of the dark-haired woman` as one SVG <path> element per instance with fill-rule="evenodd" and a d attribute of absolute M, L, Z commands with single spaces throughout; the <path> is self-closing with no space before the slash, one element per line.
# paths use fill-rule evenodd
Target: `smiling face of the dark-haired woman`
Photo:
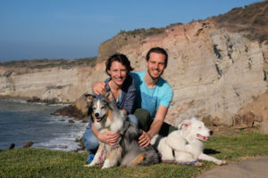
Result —
<path fill-rule="evenodd" d="M 124 83 L 128 75 L 127 68 L 119 61 L 113 61 L 111 68 L 108 69 L 107 72 L 110 74 L 113 83 L 119 86 Z"/>

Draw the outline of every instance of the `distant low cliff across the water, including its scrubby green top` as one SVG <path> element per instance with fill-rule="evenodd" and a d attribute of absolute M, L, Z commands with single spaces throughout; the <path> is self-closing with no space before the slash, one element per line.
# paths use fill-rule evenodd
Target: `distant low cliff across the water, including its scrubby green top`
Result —
<path fill-rule="evenodd" d="M 73 102 L 86 93 L 94 58 L 72 61 L 12 61 L 0 64 L 0 97 Z M 75 63 L 75 64 L 72 64 Z M 97 68 L 98 65 L 96 65 Z"/>

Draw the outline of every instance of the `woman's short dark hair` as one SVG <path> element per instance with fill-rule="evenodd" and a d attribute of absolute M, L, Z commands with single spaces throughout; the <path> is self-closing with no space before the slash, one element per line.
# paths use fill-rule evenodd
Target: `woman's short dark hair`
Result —
<path fill-rule="evenodd" d="M 114 53 L 112 56 L 110 56 L 108 58 L 108 60 L 106 61 L 106 73 L 109 75 L 108 70 L 111 69 L 112 63 L 113 61 L 118 61 L 120 62 L 123 66 L 126 67 L 126 69 L 128 70 L 128 74 L 130 73 L 130 71 L 133 70 L 133 68 L 130 65 L 130 61 L 128 59 L 128 57 L 122 53 Z M 109 75 L 110 76 L 110 75 Z"/>

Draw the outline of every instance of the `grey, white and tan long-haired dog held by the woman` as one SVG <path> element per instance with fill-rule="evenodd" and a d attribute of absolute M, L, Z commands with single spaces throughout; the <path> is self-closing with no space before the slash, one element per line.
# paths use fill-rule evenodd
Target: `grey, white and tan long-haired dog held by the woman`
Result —
<path fill-rule="evenodd" d="M 87 96 L 91 107 L 93 125 L 99 134 L 107 131 L 121 134 L 116 145 L 110 146 L 100 142 L 93 161 L 86 166 L 95 166 L 100 159 L 104 161 L 102 168 L 112 166 L 149 166 L 160 162 L 160 157 L 152 145 L 146 148 L 138 145 L 141 132 L 133 125 L 129 117 L 117 109 L 112 93 L 105 93 L 104 97 Z"/>

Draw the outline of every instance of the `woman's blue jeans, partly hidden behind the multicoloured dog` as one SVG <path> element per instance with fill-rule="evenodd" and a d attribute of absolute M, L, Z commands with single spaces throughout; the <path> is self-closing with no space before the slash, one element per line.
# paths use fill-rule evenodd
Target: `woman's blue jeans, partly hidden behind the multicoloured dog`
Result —
<path fill-rule="evenodd" d="M 130 121 L 138 127 L 138 118 L 132 114 L 130 114 L 128 117 L 130 118 Z M 90 120 L 86 128 L 86 132 L 83 134 L 82 140 L 89 153 L 95 154 L 99 143 L 96 136 L 93 134 L 91 130 L 91 124 L 92 121 Z"/>

